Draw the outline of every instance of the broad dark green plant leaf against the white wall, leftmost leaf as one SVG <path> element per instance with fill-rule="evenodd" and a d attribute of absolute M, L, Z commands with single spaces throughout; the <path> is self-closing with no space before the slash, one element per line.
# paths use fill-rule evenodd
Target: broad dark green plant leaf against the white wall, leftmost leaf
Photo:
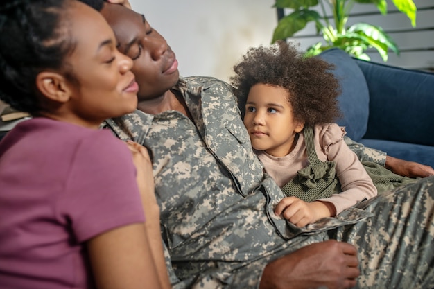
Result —
<path fill-rule="evenodd" d="M 320 15 L 314 10 L 302 9 L 292 12 L 290 15 L 279 20 L 272 35 L 271 43 L 275 43 L 277 40 L 285 40 L 293 36 L 294 33 L 306 27 L 309 21 L 315 21 L 317 19 L 320 19 Z"/>

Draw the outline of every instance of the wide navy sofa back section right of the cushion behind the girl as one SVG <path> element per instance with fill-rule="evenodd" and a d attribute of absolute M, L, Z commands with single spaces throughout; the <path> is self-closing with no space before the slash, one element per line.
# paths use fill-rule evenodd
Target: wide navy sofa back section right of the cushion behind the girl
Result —
<path fill-rule="evenodd" d="M 363 138 L 434 146 L 434 74 L 355 61 L 370 94 Z"/>

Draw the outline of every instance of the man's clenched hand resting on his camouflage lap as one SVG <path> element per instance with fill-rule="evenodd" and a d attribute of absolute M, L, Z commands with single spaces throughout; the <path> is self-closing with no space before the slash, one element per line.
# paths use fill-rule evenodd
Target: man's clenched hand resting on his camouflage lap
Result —
<path fill-rule="evenodd" d="M 328 240 L 302 247 L 272 261 L 263 270 L 260 289 L 308 289 L 356 286 L 357 251 L 353 245 Z"/>

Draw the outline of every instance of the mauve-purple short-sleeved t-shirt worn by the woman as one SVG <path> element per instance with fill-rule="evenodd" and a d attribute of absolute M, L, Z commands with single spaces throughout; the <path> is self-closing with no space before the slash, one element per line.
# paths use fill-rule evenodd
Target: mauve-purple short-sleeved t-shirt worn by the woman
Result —
<path fill-rule="evenodd" d="M 35 118 L 0 142 L 0 288 L 93 288 L 85 241 L 144 222 L 111 132 Z"/>

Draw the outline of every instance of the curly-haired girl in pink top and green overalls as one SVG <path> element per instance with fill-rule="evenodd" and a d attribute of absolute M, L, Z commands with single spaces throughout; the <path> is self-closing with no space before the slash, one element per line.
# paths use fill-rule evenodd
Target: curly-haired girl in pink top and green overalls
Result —
<path fill-rule="evenodd" d="M 376 195 L 343 141 L 338 80 L 320 58 L 294 46 L 252 48 L 236 64 L 232 85 L 245 102 L 244 124 L 267 173 L 288 197 L 275 213 L 304 227 Z M 339 181 L 339 182 L 338 182 Z"/>

